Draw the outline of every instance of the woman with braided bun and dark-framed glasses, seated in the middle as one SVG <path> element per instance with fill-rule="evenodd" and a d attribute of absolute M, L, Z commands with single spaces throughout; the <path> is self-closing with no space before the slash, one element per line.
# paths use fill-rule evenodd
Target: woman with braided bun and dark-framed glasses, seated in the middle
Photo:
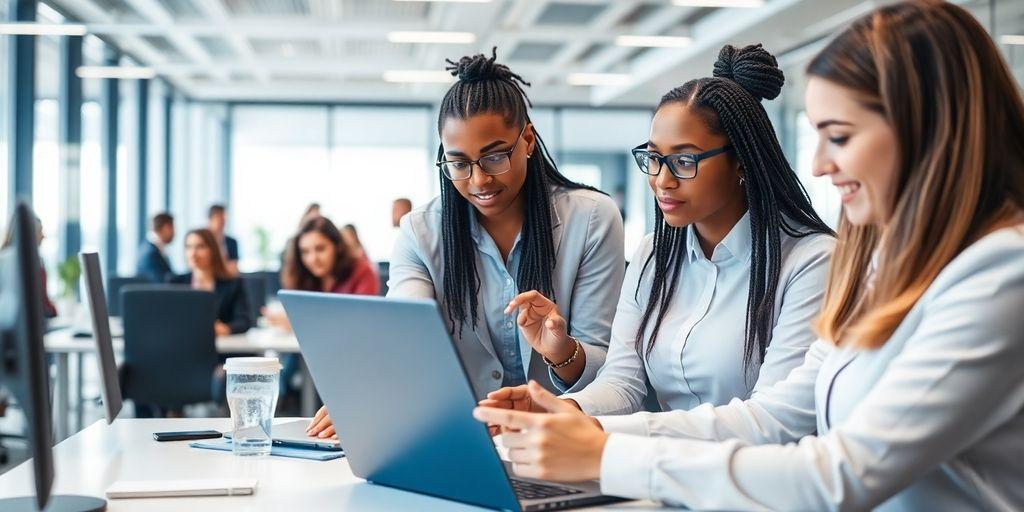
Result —
<path fill-rule="evenodd" d="M 803 361 L 835 239 L 761 105 L 782 81 L 761 45 L 726 46 L 713 78 L 662 98 L 649 140 L 633 150 L 657 200 L 654 232 L 631 260 L 604 368 L 562 395 L 583 412 L 642 411 L 647 382 L 662 410 L 720 406 Z M 520 304 L 535 324 L 560 314 L 534 292 Z M 526 386 L 503 388 L 482 404 L 529 409 L 528 397 Z"/>

